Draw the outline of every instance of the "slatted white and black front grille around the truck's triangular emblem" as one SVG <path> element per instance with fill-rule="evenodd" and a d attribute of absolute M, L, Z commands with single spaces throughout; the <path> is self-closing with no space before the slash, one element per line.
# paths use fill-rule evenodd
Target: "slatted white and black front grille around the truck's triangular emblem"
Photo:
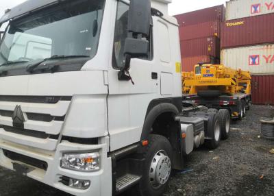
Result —
<path fill-rule="evenodd" d="M 41 149 L 55 149 L 72 97 L 0 96 L 0 138 Z M 14 124 L 16 106 L 25 115 Z M 36 138 L 36 139 L 34 139 Z"/>

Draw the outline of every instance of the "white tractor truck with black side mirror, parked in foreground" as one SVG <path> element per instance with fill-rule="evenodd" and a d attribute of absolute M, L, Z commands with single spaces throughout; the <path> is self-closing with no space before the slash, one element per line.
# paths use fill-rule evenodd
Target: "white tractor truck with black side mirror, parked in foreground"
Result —
<path fill-rule="evenodd" d="M 1 167 L 77 196 L 161 195 L 195 148 L 218 147 L 229 112 L 182 101 L 169 3 L 29 0 L 6 10 Z"/>

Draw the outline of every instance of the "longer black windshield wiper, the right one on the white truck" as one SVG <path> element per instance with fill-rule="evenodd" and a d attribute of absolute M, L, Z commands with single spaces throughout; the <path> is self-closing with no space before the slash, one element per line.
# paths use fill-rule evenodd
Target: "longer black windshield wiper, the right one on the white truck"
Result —
<path fill-rule="evenodd" d="M 54 55 L 51 56 L 51 58 L 45 58 L 43 60 L 36 60 L 36 62 L 34 62 L 33 64 L 29 64 L 27 66 L 26 71 L 29 73 L 32 73 L 32 71 L 34 71 L 34 69 L 36 69 L 40 64 L 42 64 L 43 62 L 46 62 L 47 60 L 55 60 L 55 59 L 62 59 L 62 58 L 89 58 L 90 56 L 84 56 L 84 55 L 74 55 L 74 56 L 58 56 L 58 55 Z M 41 69 L 47 69 L 47 70 L 51 70 L 51 69 L 55 69 L 56 66 L 47 66 L 46 64 L 43 64 L 44 66 L 41 67 Z"/>

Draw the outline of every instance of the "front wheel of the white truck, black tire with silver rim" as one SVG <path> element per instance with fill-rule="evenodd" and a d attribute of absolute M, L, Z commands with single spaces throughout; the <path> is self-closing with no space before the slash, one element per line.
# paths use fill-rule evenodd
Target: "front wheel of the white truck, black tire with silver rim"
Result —
<path fill-rule="evenodd" d="M 171 177 L 172 147 L 164 136 L 151 134 L 145 149 L 145 169 L 138 192 L 142 196 L 162 195 Z"/>

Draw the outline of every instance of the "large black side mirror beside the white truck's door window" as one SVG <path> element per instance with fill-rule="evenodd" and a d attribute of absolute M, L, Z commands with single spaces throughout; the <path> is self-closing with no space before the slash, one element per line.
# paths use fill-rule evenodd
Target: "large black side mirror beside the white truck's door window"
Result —
<path fill-rule="evenodd" d="M 128 36 L 125 39 L 125 68 L 129 69 L 131 58 L 146 57 L 149 52 L 149 36 L 151 22 L 151 1 L 131 0 L 128 12 Z"/>

